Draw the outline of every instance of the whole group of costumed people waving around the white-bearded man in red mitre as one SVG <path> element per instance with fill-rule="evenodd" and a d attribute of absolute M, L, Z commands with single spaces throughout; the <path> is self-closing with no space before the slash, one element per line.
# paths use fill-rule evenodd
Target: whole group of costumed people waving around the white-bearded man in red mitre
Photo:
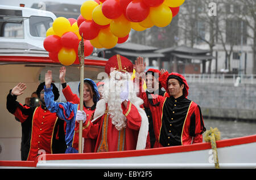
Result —
<path fill-rule="evenodd" d="M 46 153 L 77 153 L 79 121 L 83 153 L 203 142 L 203 115 L 200 106 L 187 98 L 184 76 L 145 69 L 142 57 L 135 66 L 119 54 L 109 58 L 105 66 L 108 78 L 97 84 L 84 79 L 82 110 L 80 98 L 65 82 L 65 67 L 60 68 L 60 82 L 67 102 L 56 102 L 59 91 L 52 83 L 51 71 L 38 87 L 42 105 L 37 108 L 16 101 L 26 89 L 26 84 L 17 84 L 7 95 L 7 109 L 30 132 L 24 137 L 27 151 L 23 151 L 23 160 L 34 160 L 42 149 Z"/>

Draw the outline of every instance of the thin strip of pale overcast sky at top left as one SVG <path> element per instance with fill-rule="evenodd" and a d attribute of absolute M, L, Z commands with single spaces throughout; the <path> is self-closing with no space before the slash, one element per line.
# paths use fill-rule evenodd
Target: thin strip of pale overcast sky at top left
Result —
<path fill-rule="evenodd" d="M 82 5 L 82 3 L 88 0 L 46 0 L 46 1 Z M 46 1 L 44 0 L 0 0 L 0 5 L 19 6 L 19 4 L 25 4 L 25 7 L 31 7 L 33 3 L 46 2 Z"/>

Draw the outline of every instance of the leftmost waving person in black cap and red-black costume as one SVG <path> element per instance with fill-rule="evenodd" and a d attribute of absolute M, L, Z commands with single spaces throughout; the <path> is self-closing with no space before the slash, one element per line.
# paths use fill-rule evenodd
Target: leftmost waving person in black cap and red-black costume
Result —
<path fill-rule="evenodd" d="M 23 106 L 16 101 L 17 96 L 22 95 L 26 89 L 24 83 L 18 83 L 7 95 L 7 110 L 22 123 L 22 160 L 33 161 L 41 153 L 65 153 L 67 148 L 64 121 L 46 108 L 44 84 L 39 84 L 36 90 L 42 103 L 39 107 Z M 52 87 L 56 101 L 59 98 L 59 90 L 53 83 Z"/>

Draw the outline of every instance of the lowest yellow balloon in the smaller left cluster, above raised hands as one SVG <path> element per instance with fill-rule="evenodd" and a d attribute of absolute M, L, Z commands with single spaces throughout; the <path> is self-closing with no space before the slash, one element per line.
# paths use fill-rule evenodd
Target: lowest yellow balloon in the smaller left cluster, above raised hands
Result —
<path fill-rule="evenodd" d="M 64 66 L 72 65 L 76 61 L 76 52 L 74 49 L 61 48 L 58 53 L 58 59 Z"/>

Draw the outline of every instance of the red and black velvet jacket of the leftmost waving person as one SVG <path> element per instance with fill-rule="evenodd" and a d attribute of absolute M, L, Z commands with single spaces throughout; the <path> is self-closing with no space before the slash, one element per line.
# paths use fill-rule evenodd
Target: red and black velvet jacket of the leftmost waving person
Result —
<path fill-rule="evenodd" d="M 11 91 L 10 91 L 11 92 Z M 26 125 L 30 131 L 27 138 L 29 147 L 27 160 L 33 161 L 39 153 L 65 153 L 64 122 L 45 106 L 31 108 L 16 101 L 16 96 L 7 96 L 7 109 Z"/>

